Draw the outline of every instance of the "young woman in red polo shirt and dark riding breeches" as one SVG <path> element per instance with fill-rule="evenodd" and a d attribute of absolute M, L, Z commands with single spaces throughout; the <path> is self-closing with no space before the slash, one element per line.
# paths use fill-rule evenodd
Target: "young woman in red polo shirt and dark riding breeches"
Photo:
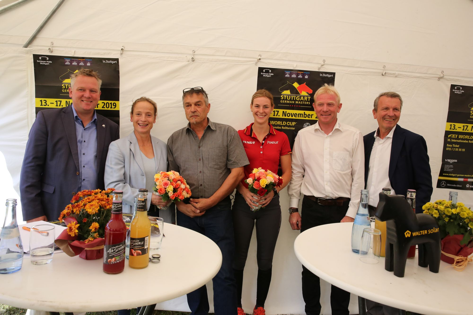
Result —
<path fill-rule="evenodd" d="M 237 286 L 238 315 L 245 315 L 241 305 L 243 269 L 256 221 L 258 278 L 253 314 L 265 315 L 264 302 L 271 282 L 272 257 L 281 226 L 279 191 L 289 184 L 291 179 L 291 148 L 288 136 L 274 130 L 269 123 L 269 117 L 274 109 L 272 94 L 269 91 L 264 89 L 256 91 L 251 98 L 250 109 L 254 122 L 244 130 L 238 131 L 250 164 L 245 166 L 245 178 L 236 187 L 237 193 L 232 209 L 235 232 L 233 270 Z M 277 173 L 279 164 L 282 168 L 283 179 L 280 187 L 263 197 L 248 190 L 248 185 L 244 180 L 254 168 L 262 167 Z M 253 211 L 254 202 L 263 205 L 264 208 Z"/>

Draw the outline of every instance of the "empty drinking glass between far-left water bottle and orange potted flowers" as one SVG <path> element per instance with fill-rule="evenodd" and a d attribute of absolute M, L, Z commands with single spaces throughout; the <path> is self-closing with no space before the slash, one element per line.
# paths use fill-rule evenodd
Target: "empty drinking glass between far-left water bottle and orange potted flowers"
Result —
<path fill-rule="evenodd" d="M 54 254 L 54 226 L 35 225 L 30 230 L 30 260 L 34 265 L 51 263 Z"/>

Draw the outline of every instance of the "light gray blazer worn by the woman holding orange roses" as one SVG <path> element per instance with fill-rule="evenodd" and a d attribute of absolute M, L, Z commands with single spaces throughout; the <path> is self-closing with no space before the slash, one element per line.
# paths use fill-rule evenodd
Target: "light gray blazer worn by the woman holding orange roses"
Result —
<path fill-rule="evenodd" d="M 156 172 L 167 171 L 166 143 L 151 136 Z M 134 132 L 128 137 L 110 143 L 105 163 L 105 187 L 123 191 L 123 212 L 133 213 L 134 200 L 138 189 L 146 187 L 146 177 L 140 147 Z M 148 198 L 148 209 L 151 204 L 151 193 Z M 169 207 L 174 211 L 174 207 Z M 164 222 L 171 223 L 171 210 L 159 210 Z"/>

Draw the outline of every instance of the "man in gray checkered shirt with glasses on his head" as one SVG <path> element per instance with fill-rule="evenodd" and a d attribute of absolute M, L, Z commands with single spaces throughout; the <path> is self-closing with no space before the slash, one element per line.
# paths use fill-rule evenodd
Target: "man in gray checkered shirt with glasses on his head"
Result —
<path fill-rule="evenodd" d="M 234 237 L 230 194 L 249 164 L 238 133 L 231 126 L 207 118 L 210 103 L 202 87 L 184 89 L 184 111 L 189 121 L 167 140 L 169 169 L 179 172 L 191 188 L 189 203 L 177 202 L 177 225 L 213 240 L 222 252 L 222 266 L 213 281 L 216 315 L 236 315 L 233 276 Z M 198 262 L 196 262 L 198 263 Z M 209 312 L 204 286 L 187 294 L 193 315 Z"/>

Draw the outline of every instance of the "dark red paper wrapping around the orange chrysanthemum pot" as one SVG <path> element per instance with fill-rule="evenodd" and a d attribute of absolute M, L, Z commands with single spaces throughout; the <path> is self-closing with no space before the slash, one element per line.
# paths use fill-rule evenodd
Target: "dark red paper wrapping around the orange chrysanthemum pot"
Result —
<path fill-rule="evenodd" d="M 77 222 L 77 220 L 73 217 L 67 217 L 64 218 L 64 222 L 68 225 L 70 222 Z M 66 229 L 56 238 L 55 243 L 70 257 L 79 255 L 80 258 L 87 260 L 101 259 L 104 257 L 105 239 L 101 237 L 94 239 L 92 242 L 86 243 L 84 241 L 78 241 L 77 236 L 70 236 L 67 234 Z M 88 250 L 85 250 L 86 248 L 88 248 Z"/>

